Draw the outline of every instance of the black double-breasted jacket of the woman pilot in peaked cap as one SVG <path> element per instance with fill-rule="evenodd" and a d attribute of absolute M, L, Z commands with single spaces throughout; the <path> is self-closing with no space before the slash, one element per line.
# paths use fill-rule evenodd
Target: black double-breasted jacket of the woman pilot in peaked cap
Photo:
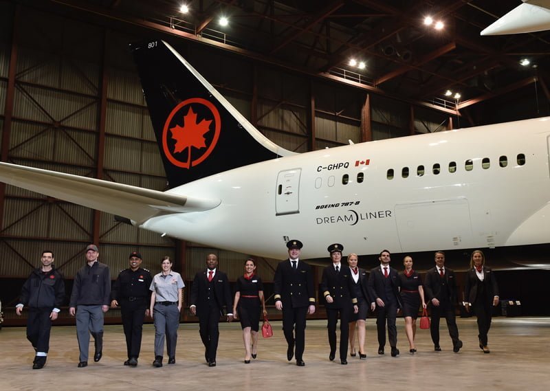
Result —
<path fill-rule="evenodd" d="M 333 302 L 325 302 L 325 307 L 329 309 L 340 309 L 350 304 L 357 304 L 355 290 L 353 289 L 353 278 L 347 265 L 340 263 L 340 273 L 336 273 L 333 265 L 325 267 L 322 271 L 321 291 L 326 299 L 331 295 Z"/>

